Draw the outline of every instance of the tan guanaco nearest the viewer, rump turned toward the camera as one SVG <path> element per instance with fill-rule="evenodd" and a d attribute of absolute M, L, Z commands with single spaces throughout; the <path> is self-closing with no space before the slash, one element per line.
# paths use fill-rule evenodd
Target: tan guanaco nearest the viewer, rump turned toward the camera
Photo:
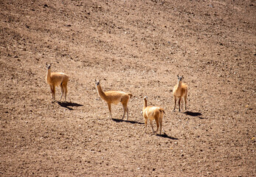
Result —
<path fill-rule="evenodd" d="M 159 125 L 160 125 L 160 134 L 162 134 L 162 118 L 164 116 L 164 109 L 159 108 L 159 107 L 153 107 L 153 106 L 148 106 L 148 97 L 144 97 L 144 106 L 143 106 L 143 117 L 145 118 L 145 133 L 147 132 L 147 123 L 148 119 L 151 122 L 151 128 L 153 131 L 153 119 L 156 121 L 156 134 L 157 131 L 159 130 Z"/>

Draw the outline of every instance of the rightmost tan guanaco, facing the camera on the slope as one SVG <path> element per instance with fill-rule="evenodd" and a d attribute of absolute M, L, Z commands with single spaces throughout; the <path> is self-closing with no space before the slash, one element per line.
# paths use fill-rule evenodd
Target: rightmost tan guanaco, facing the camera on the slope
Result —
<path fill-rule="evenodd" d="M 184 99 L 185 110 L 187 110 L 187 85 L 182 83 L 183 76 L 178 76 L 178 83 L 173 87 L 173 100 L 174 100 L 174 108 L 176 108 L 176 101 L 179 99 L 179 111 L 181 111 L 181 100 Z"/>

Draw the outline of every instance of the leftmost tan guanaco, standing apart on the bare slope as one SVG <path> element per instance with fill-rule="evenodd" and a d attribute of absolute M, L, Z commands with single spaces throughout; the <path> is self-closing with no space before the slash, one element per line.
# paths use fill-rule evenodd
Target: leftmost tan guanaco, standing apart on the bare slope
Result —
<path fill-rule="evenodd" d="M 69 82 L 69 76 L 62 72 L 51 72 L 51 64 L 46 63 L 46 83 L 49 84 L 52 91 L 52 99 L 55 100 L 55 87 L 60 86 L 61 96 L 60 100 L 64 94 L 66 101 L 66 93 L 68 92 L 67 85 Z"/>

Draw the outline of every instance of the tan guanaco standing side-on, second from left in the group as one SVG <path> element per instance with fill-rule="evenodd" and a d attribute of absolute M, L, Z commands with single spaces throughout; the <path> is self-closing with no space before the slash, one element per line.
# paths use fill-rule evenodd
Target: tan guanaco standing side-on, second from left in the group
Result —
<path fill-rule="evenodd" d="M 122 103 L 123 107 L 123 116 L 122 119 L 125 117 L 125 112 L 127 113 L 127 119 L 128 119 L 128 101 L 132 94 L 126 94 L 123 91 L 105 91 L 103 92 L 100 81 L 96 81 L 96 89 L 97 93 L 99 94 L 100 98 L 104 100 L 108 104 L 108 110 L 109 110 L 109 118 L 112 119 L 111 116 L 111 104 L 117 105 L 118 103 Z"/>

